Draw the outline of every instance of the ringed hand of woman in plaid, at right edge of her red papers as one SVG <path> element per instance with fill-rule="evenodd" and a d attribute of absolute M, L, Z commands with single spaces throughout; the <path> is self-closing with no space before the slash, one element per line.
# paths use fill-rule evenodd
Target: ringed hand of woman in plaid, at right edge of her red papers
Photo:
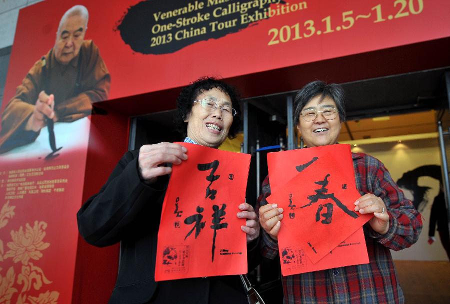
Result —
<path fill-rule="evenodd" d="M 361 214 L 373 213 L 369 220 L 370 227 L 379 234 L 386 234 L 389 229 L 389 215 L 382 199 L 371 193 L 364 194 L 354 202 L 354 211 Z"/>

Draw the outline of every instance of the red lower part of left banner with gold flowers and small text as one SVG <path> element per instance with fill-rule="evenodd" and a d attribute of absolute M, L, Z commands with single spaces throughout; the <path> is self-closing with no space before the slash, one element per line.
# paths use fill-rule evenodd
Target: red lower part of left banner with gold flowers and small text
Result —
<path fill-rule="evenodd" d="M 0 155 L 0 297 L 6 303 L 71 303 L 87 136 L 75 142 L 49 159 L 45 149 Z"/>

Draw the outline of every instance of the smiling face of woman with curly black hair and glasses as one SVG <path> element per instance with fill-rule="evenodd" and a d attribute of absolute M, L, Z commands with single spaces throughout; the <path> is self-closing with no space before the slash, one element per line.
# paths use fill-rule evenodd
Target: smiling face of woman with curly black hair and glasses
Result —
<path fill-rule="evenodd" d="M 203 91 L 195 100 L 204 98 L 219 106 L 231 107 L 229 96 L 216 88 Z M 221 112 L 219 107 L 212 111 L 206 110 L 199 102 L 195 102 L 184 122 L 187 122 L 188 137 L 202 146 L 217 148 L 228 136 L 233 116 L 225 114 L 225 111 Z"/>

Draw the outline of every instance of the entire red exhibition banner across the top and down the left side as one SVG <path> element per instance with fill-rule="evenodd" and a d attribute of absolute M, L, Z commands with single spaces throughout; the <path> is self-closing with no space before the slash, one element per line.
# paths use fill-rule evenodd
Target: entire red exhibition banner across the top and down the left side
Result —
<path fill-rule="evenodd" d="M 446 0 L 46 0 L 19 12 L 3 110 L 20 84 L 33 83 L 24 80 L 36 62 L 33 75 L 52 66 L 59 22 L 75 4 L 89 13 L 83 60 L 96 60 L 87 60 L 89 68 L 82 77 L 72 74 L 73 81 L 53 77 L 70 89 L 45 83 L 42 74 L 44 84 L 30 90 L 26 107 L 33 110 L 41 90 L 55 94 L 56 107 L 64 102 L 55 108 L 56 122 L 34 137 L 10 136 L 19 141 L 0 155 L 1 290 L 13 303 L 70 303 L 90 102 L 176 88 L 206 74 L 240 76 L 450 36 Z M 102 74 L 90 72 L 92 66 Z M 89 85 L 97 76 L 99 90 Z M 28 118 L 21 108 L 14 113 L 8 116 L 13 132 Z"/>

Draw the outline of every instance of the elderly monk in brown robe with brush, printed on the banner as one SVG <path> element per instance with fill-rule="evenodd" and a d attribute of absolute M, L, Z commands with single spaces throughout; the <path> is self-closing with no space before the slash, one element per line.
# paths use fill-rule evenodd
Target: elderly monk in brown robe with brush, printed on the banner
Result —
<path fill-rule="evenodd" d="M 61 16 L 54 45 L 31 66 L 1 115 L 0 153 L 34 142 L 44 127 L 42 140 L 55 152 L 54 123 L 83 118 L 93 102 L 108 98 L 108 69 L 95 43 L 85 39 L 88 19 L 83 5 Z"/>

